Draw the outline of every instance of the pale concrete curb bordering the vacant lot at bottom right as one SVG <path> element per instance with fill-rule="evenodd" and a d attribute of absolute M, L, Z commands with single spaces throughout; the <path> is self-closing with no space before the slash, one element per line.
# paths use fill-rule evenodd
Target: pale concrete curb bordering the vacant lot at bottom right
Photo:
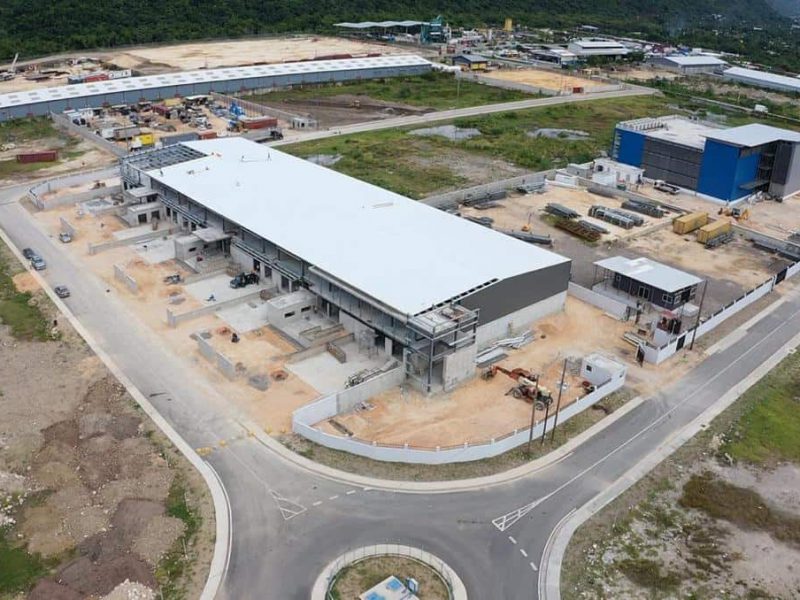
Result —
<path fill-rule="evenodd" d="M 589 500 L 582 507 L 573 509 L 553 529 L 548 538 L 542 556 L 542 569 L 539 572 L 539 598 L 541 600 L 561 599 L 561 564 L 567 546 L 575 531 L 592 516 L 602 510 L 628 488 L 633 486 L 661 462 L 667 459 L 683 444 L 705 429 L 708 424 L 733 404 L 750 387 L 778 365 L 793 349 L 800 345 L 800 333 L 784 344 L 767 360 L 739 384 L 728 390 L 717 402 L 708 407 L 683 429 L 675 432 L 658 448 L 644 457 L 637 465 L 629 469 L 616 482 L 603 492 Z"/>

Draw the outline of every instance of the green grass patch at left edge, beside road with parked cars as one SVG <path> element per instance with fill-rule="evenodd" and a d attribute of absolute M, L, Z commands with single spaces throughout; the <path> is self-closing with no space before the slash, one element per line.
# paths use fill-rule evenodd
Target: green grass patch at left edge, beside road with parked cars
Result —
<path fill-rule="evenodd" d="M 50 340 L 49 320 L 33 295 L 18 291 L 14 285 L 12 261 L 11 254 L 0 247 L 0 322 L 8 325 L 17 339 Z"/>

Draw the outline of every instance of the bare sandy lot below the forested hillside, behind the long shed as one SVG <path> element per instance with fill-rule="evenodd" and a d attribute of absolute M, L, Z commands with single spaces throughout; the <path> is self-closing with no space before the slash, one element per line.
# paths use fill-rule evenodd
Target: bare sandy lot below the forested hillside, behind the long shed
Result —
<path fill-rule="evenodd" d="M 403 54 L 407 48 L 335 37 L 297 36 L 134 48 L 104 58 L 123 69 L 163 72 L 313 59 L 329 54 Z"/>

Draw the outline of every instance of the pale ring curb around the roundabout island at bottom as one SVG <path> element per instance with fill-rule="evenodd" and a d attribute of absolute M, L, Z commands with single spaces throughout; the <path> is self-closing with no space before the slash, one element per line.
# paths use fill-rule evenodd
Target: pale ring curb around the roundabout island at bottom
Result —
<path fill-rule="evenodd" d="M 352 555 L 352 556 L 350 556 Z M 322 572 L 314 581 L 314 587 L 311 588 L 310 600 L 327 600 L 328 586 L 333 580 L 334 576 L 345 567 L 357 563 L 365 558 L 373 556 L 402 556 L 412 560 L 418 560 L 431 569 L 442 575 L 446 582 L 450 582 L 452 586 L 451 599 L 452 600 L 467 600 L 467 588 L 458 574 L 441 558 L 414 548 L 412 546 L 403 546 L 402 544 L 376 544 L 374 546 L 364 546 L 363 548 L 356 548 L 345 552 L 341 556 L 335 558 L 333 561 L 322 570 Z"/>

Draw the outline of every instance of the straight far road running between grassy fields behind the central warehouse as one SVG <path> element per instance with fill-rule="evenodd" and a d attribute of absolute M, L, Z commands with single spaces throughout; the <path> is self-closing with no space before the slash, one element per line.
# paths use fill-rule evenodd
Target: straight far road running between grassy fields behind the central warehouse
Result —
<path fill-rule="evenodd" d="M 323 138 L 346 135 L 348 133 L 364 133 L 367 131 L 378 131 L 379 129 L 393 129 L 395 127 L 408 127 L 411 125 L 426 125 L 438 121 L 451 121 L 463 117 L 476 117 L 479 115 L 489 115 L 492 113 L 509 112 L 512 110 L 524 110 L 542 106 L 555 106 L 557 104 L 572 104 L 574 102 L 589 102 L 594 100 L 604 100 L 609 98 L 624 98 L 627 96 L 652 96 L 656 90 L 643 87 L 629 87 L 616 92 L 601 92 L 598 94 L 573 94 L 570 96 L 550 96 L 548 98 L 535 98 L 533 100 L 519 100 L 517 102 L 501 102 L 499 104 L 485 104 L 483 106 L 470 106 L 468 108 L 456 108 L 452 110 L 440 110 L 426 113 L 424 115 L 411 115 L 406 117 L 394 117 L 380 121 L 368 121 L 366 123 L 354 123 L 352 125 L 342 125 L 336 129 L 324 129 L 321 131 L 310 131 L 306 133 L 294 132 L 287 135 L 287 139 L 279 142 L 272 142 L 270 146 L 285 146 L 298 142 L 308 142 Z M 246 137 L 246 136 L 245 136 Z"/>

